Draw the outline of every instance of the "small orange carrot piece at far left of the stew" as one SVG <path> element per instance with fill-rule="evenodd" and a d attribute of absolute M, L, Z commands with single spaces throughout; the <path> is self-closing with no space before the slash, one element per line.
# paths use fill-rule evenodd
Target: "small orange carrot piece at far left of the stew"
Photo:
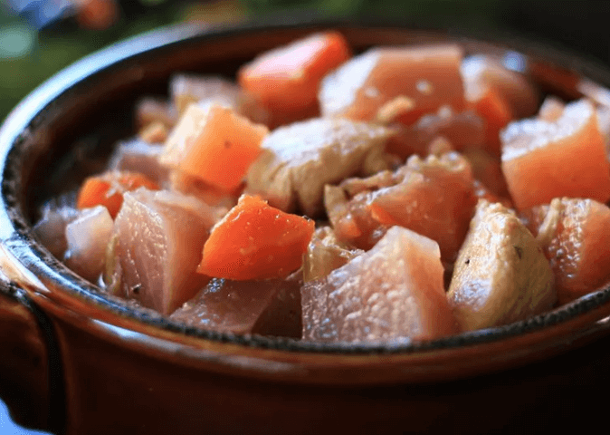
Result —
<path fill-rule="evenodd" d="M 123 204 L 123 193 L 144 187 L 158 190 L 155 181 L 137 172 L 110 172 L 85 179 L 76 200 L 77 208 L 104 206 L 112 218 Z"/>

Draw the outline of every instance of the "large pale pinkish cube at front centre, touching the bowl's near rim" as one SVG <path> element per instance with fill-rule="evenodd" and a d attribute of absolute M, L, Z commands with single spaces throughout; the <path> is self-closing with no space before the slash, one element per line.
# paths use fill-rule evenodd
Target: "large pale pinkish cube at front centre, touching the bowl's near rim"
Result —
<path fill-rule="evenodd" d="M 401 227 L 301 290 L 303 339 L 431 340 L 457 332 L 438 245 Z"/>

